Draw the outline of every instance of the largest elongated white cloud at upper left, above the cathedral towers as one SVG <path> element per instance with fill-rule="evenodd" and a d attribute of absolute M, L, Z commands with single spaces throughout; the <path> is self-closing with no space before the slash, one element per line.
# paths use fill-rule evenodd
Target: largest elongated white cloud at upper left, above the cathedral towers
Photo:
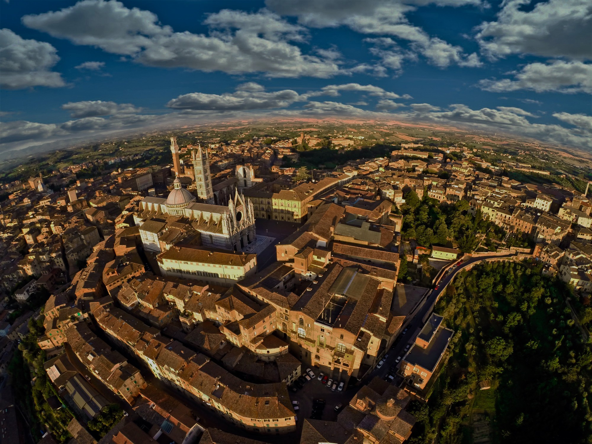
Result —
<path fill-rule="evenodd" d="M 158 67 L 185 67 L 231 74 L 263 72 L 271 77 L 329 78 L 345 73 L 337 54 L 303 54 L 304 27 L 266 9 L 255 13 L 224 9 L 210 14 L 210 32 L 175 32 L 155 14 L 112 0 L 83 0 L 60 11 L 25 15 L 22 22 L 53 37 L 130 57 Z M 318 52 L 317 52 L 318 53 Z"/>

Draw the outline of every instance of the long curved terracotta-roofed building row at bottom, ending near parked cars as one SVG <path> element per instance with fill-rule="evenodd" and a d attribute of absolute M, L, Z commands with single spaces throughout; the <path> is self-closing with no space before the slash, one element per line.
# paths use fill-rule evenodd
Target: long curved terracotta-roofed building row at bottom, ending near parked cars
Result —
<path fill-rule="evenodd" d="M 120 346 L 134 353 L 155 377 L 213 408 L 245 430 L 287 433 L 296 428 L 285 384 L 253 384 L 235 377 L 207 356 L 117 308 L 97 308 L 96 323 Z"/>

